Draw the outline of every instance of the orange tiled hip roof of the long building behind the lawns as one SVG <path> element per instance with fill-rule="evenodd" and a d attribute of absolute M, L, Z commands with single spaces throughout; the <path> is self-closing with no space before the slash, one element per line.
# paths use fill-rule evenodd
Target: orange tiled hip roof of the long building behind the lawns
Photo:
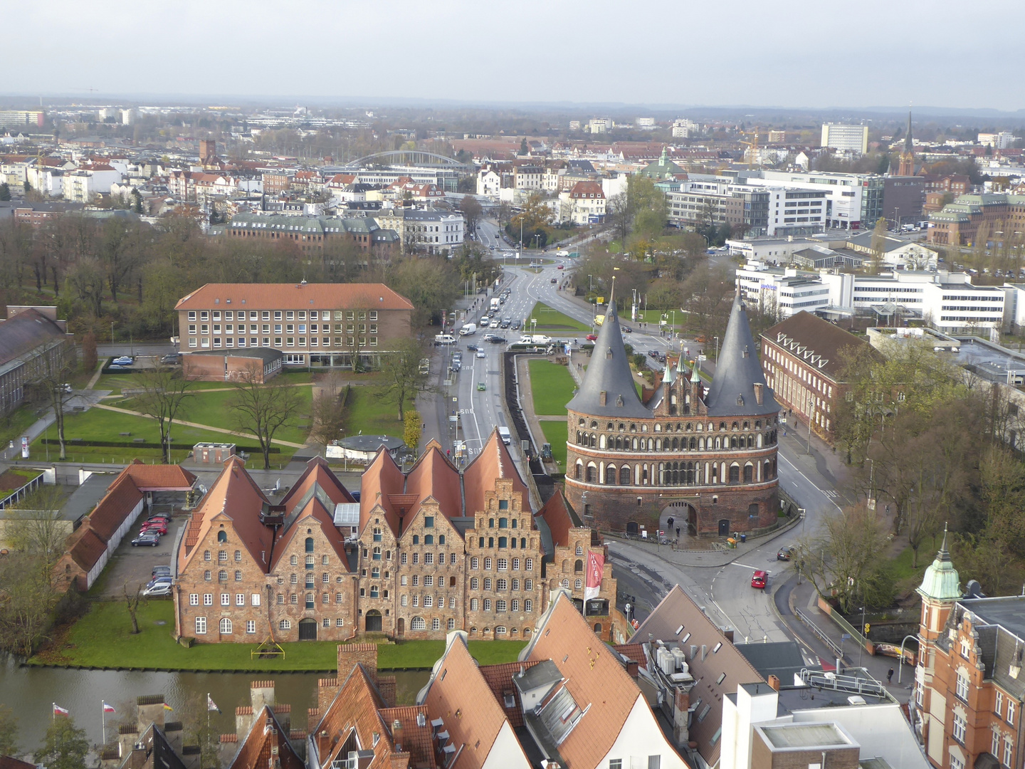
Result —
<path fill-rule="evenodd" d="M 220 299 L 217 307 L 248 310 L 413 309 L 413 302 L 383 283 L 207 283 L 179 299 L 174 309 L 209 310 L 214 299 Z"/>

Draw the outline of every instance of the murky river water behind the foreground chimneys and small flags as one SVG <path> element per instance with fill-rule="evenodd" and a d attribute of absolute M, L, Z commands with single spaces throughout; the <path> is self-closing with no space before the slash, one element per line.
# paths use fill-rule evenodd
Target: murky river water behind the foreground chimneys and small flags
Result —
<path fill-rule="evenodd" d="M 292 705 L 292 726 L 306 728 L 306 709 L 317 704 L 317 680 L 327 674 L 317 673 L 124 673 L 117 671 L 75 671 L 55 667 L 23 667 L 8 657 L 0 662 L 0 704 L 10 706 L 17 717 L 18 745 L 32 752 L 40 744 L 52 718 L 52 703 L 67 707 L 75 725 L 85 729 L 89 741 L 101 742 L 101 700 L 114 705 L 118 715 L 108 715 L 107 736 L 113 739 L 115 723 L 135 697 L 163 694 L 171 707 L 180 707 L 187 699 L 207 693 L 220 709 L 211 713 L 210 722 L 221 733 L 235 731 L 235 709 L 249 704 L 249 684 L 256 679 L 276 682 L 278 702 Z M 398 671 L 395 675 L 399 704 L 411 703 L 416 692 L 427 682 L 428 671 Z M 168 713 L 173 721 L 175 714 Z"/>

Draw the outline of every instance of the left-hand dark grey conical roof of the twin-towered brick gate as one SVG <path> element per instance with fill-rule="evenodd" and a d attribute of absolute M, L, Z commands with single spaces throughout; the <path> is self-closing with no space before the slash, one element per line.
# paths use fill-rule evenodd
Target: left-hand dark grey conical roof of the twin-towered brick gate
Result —
<path fill-rule="evenodd" d="M 633 374 L 623 347 L 615 297 L 609 295 L 605 322 L 598 332 L 594 352 L 587 364 L 580 390 L 567 408 L 593 416 L 643 419 L 652 415 L 638 396 Z"/>

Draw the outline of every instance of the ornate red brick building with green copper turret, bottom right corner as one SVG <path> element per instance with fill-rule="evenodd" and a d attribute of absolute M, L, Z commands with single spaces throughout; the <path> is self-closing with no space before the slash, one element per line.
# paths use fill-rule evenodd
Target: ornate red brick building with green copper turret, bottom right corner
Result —
<path fill-rule="evenodd" d="M 918 588 L 921 617 L 912 721 L 939 769 L 1022 764 L 1025 596 L 962 596 L 946 532 Z"/>

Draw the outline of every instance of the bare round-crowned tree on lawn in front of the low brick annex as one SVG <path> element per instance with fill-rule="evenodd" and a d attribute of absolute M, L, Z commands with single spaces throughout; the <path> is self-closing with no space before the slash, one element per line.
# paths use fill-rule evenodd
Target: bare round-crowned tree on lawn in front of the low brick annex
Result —
<path fill-rule="evenodd" d="M 235 395 L 229 401 L 235 422 L 240 430 L 256 436 L 263 454 L 263 469 L 271 469 L 271 447 L 279 430 L 298 419 L 302 398 L 297 388 L 275 377 L 262 381 L 262 363 L 253 363 L 232 382 Z"/>

